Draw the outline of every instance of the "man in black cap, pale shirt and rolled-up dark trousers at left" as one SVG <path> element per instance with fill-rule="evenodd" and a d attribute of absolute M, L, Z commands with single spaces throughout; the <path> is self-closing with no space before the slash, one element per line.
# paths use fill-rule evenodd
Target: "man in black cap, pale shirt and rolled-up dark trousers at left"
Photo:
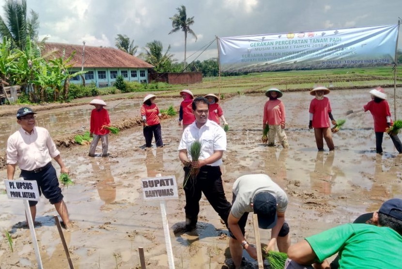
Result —
<path fill-rule="evenodd" d="M 66 228 L 70 226 L 67 207 L 63 201 L 56 170 L 52 158 L 60 165 L 62 173 L 69 173 L 62 161 L 60 151 L 56 148 L 49 132 L 42 127 L 35 127 L 35 112 L 29 107 L 17 111 L 17 122 L 21 128 L 11 134 L 7 140 L 7 179 L 13 180 L 15 166 L 21 169 L 20 177 L 36 180 L 39 194 L 54 205 Z M 37 201 L 29 201 L 32 221 L 35 222 Z"/>

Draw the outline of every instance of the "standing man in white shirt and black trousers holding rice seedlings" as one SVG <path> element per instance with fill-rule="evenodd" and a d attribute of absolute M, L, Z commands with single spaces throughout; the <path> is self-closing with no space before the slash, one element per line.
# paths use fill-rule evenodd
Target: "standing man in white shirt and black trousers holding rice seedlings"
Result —
<path fill-rule="evenodd" d="M 227 225 L 231 204 L 225 197 L 221 171 L 223 151 L 226 150 L 226 133 L 216 122 L 208 120 L 208 100 L 197 97 L 192 109 L 195 121 L 184 131 L 179 144 L 179 159 L 185 165 L 186 231 L 196 228 L 200 212 L 201 192 Z M 193 161 L 190 147 L 196 140 L 201 142 L 201 154 Z M 199 168 L 197 176 L 189 175 L 190 170 Z M 188 179 L 186 181 L 186 179 Z"/>

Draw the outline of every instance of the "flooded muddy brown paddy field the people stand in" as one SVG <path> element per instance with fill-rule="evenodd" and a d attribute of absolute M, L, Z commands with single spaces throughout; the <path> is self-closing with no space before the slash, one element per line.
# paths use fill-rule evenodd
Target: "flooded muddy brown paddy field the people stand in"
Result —
<path fill-rule="evenodd" d="M 377 155 L 371 115 L 345 116 L 347 110 L 359 109 L 370 99 L 367 92 L 342 90 L 328 95 L 334 117 L 347 120 L 344 129 L 334 134 L 334 152 L 327 149 L 317 152 L 313 131 L 307 128 L 308 106 L 312 99 L 307 92 L 285 93 L 282 97 L 290 149 L 261 144 L 265 97 L 239 95 L 224 101 L 222 107 L 230 131 L 222 179 L 228 199 L 232 199 L 232 183 L 237 177 L 249 173 L 268 174 L 288 193 L 286 218 L 295 242 L 351 222 L 361 213 L 378 209 L 384 200 L 402 198 L 402 159 L 389 137 L 385 136 L 383 142 L 385 154 Z M 387 93 L 390 96 L 391 90 Z M 400 100 L 398 98 L 399 106 Z M 171 104 L 179 105 L 180 101 L 160 99 L 158 105 L 167 108 Z M 134 103 L 133 106 L 130 103 Z M 393 112 L 393 100 L 389 103 Z M 137 114 L 139 107 L 135 104 L 136 101 L 125 100 L 116 106 L 117 109 L 122 105 L 122 110 L 110 109 L 112 121 L 125 113 Z M 56 118 L 54 125 L 46 125 L 51 117 L 41 112 L 38 123 L 43 117 L 44 125 L 39 125 L 49 128 L 52 134 L 79 130 L 81 126 L 88 126 L 85 120 L 90 109 L 90 106 L 83 106 L 69 108 L 68 113 L 65 109 L 48 111 L 48 115 Z M 70 113 L 74 115 L 72 118 L 65 115 Z M 398 116 L 401 118 L 401 112 Z M 66 125 L 68 129 L 63 129 Z M 76 268 L 136 268 L 139 266 L 138 247 L 144 247 L 147 268 L 168 268 L 159 202 L 144 202 L 140 185 L 141 178 L 155 174 L 175 175 L 178 185 L 183 182 L 183 170 L 177 158 L 181 135 L 177 117 L 162 122 L 162 135 L 165 147 L 148 150 L 140 148 L 144 138 L 139 127 L 112 135 L 108 158 L 88 157 L 88 146 L 62 149 L 64 162 L 75 181 L 75 185 L 63 189 L 63 194 L 73 221 L 71 231 L 64 234 Z M 57 167 L 57 170 L 60 169 Z M 0 176 L 4 178 L 5 171 L 1 171 Z M 0 194 L 0 203 L 0 228 L 11 231 L 15 243 L 15 252 L 11 253 L 6 241 L 0 242 L 1 268 L 35 268 L 29 230 L 19 223 L 24 221 L 22 203 L 7 199 L 4 194 Z M 180 187 L 179 199 L 167 201 L 176 268 L 227 268 L 231 265 L 229 239 L 216 212 L 201 198 L 198 236 L 187 236 L 181 232 L 184 204 Z M 44 267 L 66 268 L 67 261 L 52 220 L 54 213 L 54 208 L 43 198 L 38 204 L 36 221 L 40 225 L 36 233 Z M 247 224 L 246 233 L 248 240 L 255 242 L 251 222 Z M 266 243 L 269 233 L 261 230 L 261 237 Z M 255 262 L 247 258 L 245 267 L 255 268 Z"/>

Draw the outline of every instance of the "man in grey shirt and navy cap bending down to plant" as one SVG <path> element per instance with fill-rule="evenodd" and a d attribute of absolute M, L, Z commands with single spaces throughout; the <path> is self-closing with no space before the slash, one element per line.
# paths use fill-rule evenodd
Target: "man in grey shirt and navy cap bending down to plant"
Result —
<path fill-rule="evenodd" d="M 235 268 L 240 268 L 242 248 L 254 259 L 257 251 L 245 239 L 245 226 L 249 212 L 258 216 L 262 229 L 272 229 L 267 250 L 287 252 L 290 246 L 289 225 L 285 221 L 288 196 L 270 177 L 264 174 L 245 175 L 233 184 L 232 209 L 228 218 L 229 248 Z"/>

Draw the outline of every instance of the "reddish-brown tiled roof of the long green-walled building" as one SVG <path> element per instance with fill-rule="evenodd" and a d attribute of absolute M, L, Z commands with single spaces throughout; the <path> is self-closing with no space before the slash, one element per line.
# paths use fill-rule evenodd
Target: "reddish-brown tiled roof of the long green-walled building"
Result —
<path fill-rule="evenodd" d="M 71 63 L 81 68 L 82 45 L 45 43 L 44 53 L 56 50 L 56 57 L 61 57 L 63 50 L 65 58 L 76 51 Z M 154 66 L 132 56 L 120 49 L 112 47 L 85 46 L 84 68 L 153 68 Z"/>

